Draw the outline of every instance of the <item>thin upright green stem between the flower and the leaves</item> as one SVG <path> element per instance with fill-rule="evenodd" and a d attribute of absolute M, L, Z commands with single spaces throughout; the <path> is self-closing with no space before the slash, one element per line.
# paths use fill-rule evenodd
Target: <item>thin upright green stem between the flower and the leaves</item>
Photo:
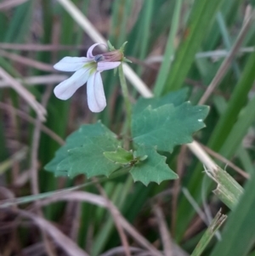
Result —
<path fill-rule="evenodd" d="M 119 65 L 119 77 L 120 77 L 120 82 L 121 82 L 121 86 L 122 86 L 122 94 L 123 94 L 123 98 L 124 98 L 124 102 L 125 102 L 125 106 L 126 106 L 126 112 L 127 112 L 127 138 L 128 138 L 129 134 L 130 134 L 130 129 L 131 129 L 132 106 L 131 106 L 129 96 L 128 96 L 127 82 L 126 82 L 126 78 L 124 76 L 122 64 Z"/>

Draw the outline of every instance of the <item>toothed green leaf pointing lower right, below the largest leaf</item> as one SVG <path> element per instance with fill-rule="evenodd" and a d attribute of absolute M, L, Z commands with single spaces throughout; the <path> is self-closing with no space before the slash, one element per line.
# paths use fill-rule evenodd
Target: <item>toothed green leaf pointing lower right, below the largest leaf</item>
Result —
<path fill-rule="evenodd" d="M 137 158 L 148 156 L 144 161 L 135 163 L 131 168 L 130 174 L 134 181 L 148 185 L 150 182 L 160 184 L 163 180 L 178 179 L 178 175 L 168 167 L 167 157 L 158 154 L 155 147 L 136 145 L 134 156 Z"/>

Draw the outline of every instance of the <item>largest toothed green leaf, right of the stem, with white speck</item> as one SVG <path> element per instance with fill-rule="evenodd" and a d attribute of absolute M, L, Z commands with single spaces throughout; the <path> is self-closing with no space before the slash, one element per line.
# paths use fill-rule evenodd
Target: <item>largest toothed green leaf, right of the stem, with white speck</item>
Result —
<path fill-rule="evenodd" d="M 205 127 L 203 120 L 208 111 L 208 106 L 192 106 L 189 101 L 177 107 L 168 104 L 152 109 L 149 106 L 133 115 L 133 141 L 156 146 L 158 151 L 173 151 L 175 145 L 190 143 L 192 134 Z"/>

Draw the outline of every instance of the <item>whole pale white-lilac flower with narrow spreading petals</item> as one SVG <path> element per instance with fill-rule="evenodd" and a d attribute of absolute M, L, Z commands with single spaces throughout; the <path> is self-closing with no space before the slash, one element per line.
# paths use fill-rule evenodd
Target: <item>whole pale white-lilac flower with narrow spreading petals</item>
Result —
<path fill-rule="evenodd" d="M 105 109 L 105 91 L 100 72 L 116 68 L 121 64 L 121 61 L 107 57 L 111 52 L 94 56 L 93 49 L 99 44 L 104 43 L 94 43 L 88 48 L 87 58 L 65 57 L 54 65 L 54 69 L 58 71 L 75 71 L 70 78 L 60 82 L 54 88 L 54 94 L 57 98 L 60 100 L 69 99 L 78 88 L 87 82 L 89 109 L 93 112 L 100 112 Z"/>

